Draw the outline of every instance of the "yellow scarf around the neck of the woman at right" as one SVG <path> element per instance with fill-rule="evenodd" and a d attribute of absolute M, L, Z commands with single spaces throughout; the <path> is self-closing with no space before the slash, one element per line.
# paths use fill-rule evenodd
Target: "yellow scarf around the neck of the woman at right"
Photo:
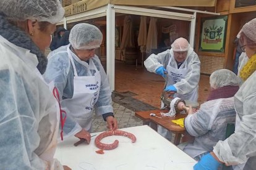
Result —
<path fill-rule="evenodd" d="M 240 71 L 239 76 L 245 81 L 249 78 L 252 73 L 256 70 L 256 54 L 252 55 L 252 57 L 248 60 L 248 62 L 244 65 L 242 70 Z"/>

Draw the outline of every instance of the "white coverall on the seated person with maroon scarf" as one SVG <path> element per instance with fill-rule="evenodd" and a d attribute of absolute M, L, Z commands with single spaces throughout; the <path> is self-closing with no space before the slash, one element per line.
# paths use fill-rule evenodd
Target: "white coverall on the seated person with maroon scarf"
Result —
<path fill-rule="evenodd" d="M 186 131 L 195 136 L 195 140 L 182 150 L 192 158 L 211 152 L 219 140 L 226 139 L 227 124 L 235 121 L 234 97 L 203 103 L 196 113 L 188 115 L 184 121 Z"/>

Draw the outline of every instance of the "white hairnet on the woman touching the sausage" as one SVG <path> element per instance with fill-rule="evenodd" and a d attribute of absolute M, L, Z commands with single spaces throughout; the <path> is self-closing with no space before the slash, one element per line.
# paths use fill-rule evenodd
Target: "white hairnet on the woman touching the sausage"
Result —
<path fill-rule="evenodd" d="M 74 49 L 95 49 L 100 47 L 102 41 L 101 31 L 94 25 L 79 23 L 69 34 L 69 42 Z"/>

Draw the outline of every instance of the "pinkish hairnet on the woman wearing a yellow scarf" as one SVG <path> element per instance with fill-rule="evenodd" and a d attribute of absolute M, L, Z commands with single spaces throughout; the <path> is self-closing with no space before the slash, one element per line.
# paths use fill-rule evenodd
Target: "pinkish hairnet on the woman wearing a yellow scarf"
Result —
<path fill-rule="evenodd" d="M 241 30 L 245 36 L 256 42 L 256 18 L 245 23 Z"/>

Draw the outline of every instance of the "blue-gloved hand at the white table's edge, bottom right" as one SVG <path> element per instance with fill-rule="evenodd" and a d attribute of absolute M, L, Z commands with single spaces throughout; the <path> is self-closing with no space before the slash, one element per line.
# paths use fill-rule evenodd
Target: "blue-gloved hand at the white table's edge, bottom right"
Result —
<path fill-rule="evenodd" d="M 203 156 L 193 168 L 194 170 L 217 170 L 219 166 L 220 163 L 213 158 L 211 153 L 208 153 L 207 155 Z"/>

